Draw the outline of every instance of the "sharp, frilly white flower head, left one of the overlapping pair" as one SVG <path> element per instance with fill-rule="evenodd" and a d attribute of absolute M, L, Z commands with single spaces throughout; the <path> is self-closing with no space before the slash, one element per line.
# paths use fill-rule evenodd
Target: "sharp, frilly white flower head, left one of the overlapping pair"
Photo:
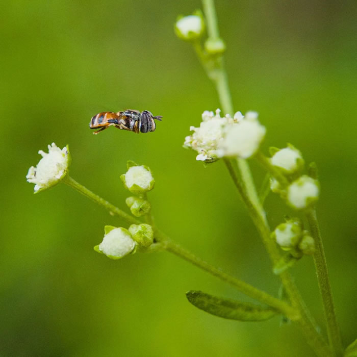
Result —
<path fill-rule="evenodd" d="M 213 162 L 218 159 L 217 146 L 223 139 L 224 126 L 233 119 L 226 115 L 221 118 L 220 110 L 202 113 L 202 121 L 199 127 L 190 126 L 194 133 L 185 138 L 184 147 L 192 148 L 198 152 L 197 161 Z"/>

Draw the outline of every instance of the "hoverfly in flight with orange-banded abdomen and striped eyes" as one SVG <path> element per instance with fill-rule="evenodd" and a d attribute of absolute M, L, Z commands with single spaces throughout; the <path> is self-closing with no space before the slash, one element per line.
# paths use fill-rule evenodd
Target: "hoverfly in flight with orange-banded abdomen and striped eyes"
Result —
<path fill-rule="evenodd" d="M 89 127 L 90 129 L 98 129 L 93 134 L 98 134 L 111 125 L 138 134 L 148 133 L 155 131 L 155 120 L 161 120 L 161 118 L 161 115 L 154 116 L 147 110 L 142 112 L 138 110 L 124 110 L 118 113 L 103 112 L 92 117 Z"/>

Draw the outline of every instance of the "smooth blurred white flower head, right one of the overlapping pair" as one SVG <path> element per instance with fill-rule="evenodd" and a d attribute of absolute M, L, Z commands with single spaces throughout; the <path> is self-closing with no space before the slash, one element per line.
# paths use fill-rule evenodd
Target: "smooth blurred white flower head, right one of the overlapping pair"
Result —
<path fill-rule="evenodd" d="M 247 159 L 259 149 L 265 136 L 265 126 L 248 112 L 248 118 L 227 125 L 224 139 L 220 143 L 219 156 L 238 156 Z"/>

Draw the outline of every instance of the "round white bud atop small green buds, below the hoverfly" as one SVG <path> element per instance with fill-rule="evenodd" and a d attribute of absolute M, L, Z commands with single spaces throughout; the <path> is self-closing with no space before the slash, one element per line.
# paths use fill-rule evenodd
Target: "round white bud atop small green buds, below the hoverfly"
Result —
<path fill-rule="evenodd" d="M 155 180 L 147 166 L 139 166 L 132 161 L 128 161 L 127 169 L 126 173 L 120 176 L 120 179 L 130 192 L 143 194 L 154 188 Z"/>

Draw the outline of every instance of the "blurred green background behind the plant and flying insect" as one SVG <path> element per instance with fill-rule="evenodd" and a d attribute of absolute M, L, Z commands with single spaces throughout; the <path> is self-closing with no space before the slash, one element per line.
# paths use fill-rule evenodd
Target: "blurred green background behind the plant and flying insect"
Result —
<path fill-rule="evenodd" d="M 247 300 L 170 253 L 111 261 L 93 251 L 104 225 L 123 222 L 65 185 L 33 195 L 39 149 L 69 144 L 71 176 L 125 207 L 127 160 L 148 165 L 158 226 L 198 256 L 276 294 L 279 282 L 221 162 L 204 168 L 182 148 L 212 83 L 173 24 L 200 2 L 5 1 L 1 17 L 1 356 L 313 355 L 293 324 L 210 316 L 185 292 Z M 320 171 L 318 214 L 344 344 L 357 337 L 357 46 L 354 0 L 216 4 L 236 110 L 267 126 L 264 150 L 298 147 Z M 90 118 L 125 108 L 163 115 L 155 133 Z M 263 172 L 254 162 L 257 183 Z M 289 210 L 270 195 L 272 226 Z M 124 224 L 123 224 L 124 225 Z M 318 322 L 312 259 L 292 269 Z M 322 327 L 323 328 L 323 327 Z"/>

